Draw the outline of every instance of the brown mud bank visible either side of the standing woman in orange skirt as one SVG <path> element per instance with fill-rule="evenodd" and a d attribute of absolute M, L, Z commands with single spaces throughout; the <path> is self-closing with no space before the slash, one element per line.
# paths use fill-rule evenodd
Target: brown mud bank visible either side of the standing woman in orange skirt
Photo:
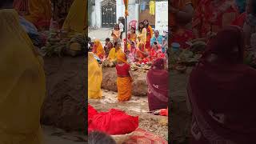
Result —
<path fill-rule="evenodd" d="M 115 68 L 104 67 L 102 68 L 102 73 L 102 88 L 111 91 L 118 91 Z M 143 73 L 142 71 L 133 71 L 131 72 L 131 77 L 134 81 L 132 94 L 136 96 L 145 96 L 147 94 L 146 73 Z"/>

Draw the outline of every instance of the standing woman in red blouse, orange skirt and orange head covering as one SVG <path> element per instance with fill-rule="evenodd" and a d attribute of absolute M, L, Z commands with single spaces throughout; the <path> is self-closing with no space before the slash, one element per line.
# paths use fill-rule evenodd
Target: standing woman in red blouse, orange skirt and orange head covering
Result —
<path fill-rule="evenodd" d="M 118 54 L 118 64 L 116 65 L 116 70 L 118 74 L 117 85 L 119 102 L 126 102 L 131 98 L 132 78 L 130 77 L 130 65 L 127 64 L 126 59 L 126 54 Z"/>

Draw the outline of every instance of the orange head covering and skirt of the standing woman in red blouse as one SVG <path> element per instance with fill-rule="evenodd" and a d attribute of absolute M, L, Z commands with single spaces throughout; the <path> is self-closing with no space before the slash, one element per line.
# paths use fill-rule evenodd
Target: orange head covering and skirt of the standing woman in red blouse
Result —
<path fill-rule="evenodd" d="M 118 53 L 118 62 L 126 62 L 126 54 Z M 132 79 L 129 77 L 118 77 L 117 78 L 117 86 L 118 86 L 118 101 L 126 102 L 131 98 L 132 91 Z"/>

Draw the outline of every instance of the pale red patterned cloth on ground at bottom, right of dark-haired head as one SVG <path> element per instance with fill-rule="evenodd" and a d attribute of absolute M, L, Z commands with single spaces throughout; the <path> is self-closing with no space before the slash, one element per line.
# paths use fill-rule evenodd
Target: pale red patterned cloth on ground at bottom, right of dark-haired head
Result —
<path fill-rule="evenodd" d="M 125 142 L 125 144 L 167 144 L 168 142 L 157 135 L 138 128 Z"/>

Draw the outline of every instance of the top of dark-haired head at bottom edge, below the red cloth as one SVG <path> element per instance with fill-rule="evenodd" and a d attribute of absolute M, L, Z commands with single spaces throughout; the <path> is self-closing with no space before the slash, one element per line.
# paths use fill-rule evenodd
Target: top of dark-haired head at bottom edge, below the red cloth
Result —
<path fill-rule="evenodd" d="M 116 144 L 114 139 L 111 138 L 109 135 L 102 133 L 102 132 L 98 132 L 98 131 L 91 132 L 88 135 L 88 143 L 90 143 L 90 144 L 102 144 L 102 143 Z"/>

